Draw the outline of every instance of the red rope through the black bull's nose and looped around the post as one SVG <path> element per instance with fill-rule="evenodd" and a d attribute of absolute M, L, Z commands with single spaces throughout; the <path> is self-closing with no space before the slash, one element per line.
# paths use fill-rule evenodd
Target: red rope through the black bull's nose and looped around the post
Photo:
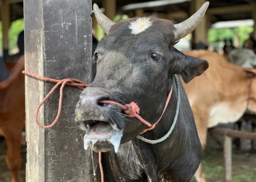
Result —
<path fill-rule="evenodd" d="M 38 76 L 38 75 L 35 75 L 33 73 L 30 73 L 30 72 L 27 72 L 27 71 L 22 71 L 22 73 L 26 74 L 26 75 L 29 75 L 31 77 L 34 77 L 38 80 L 42 80 L 44 82 L 53 82 L 53 83 L 56 83 L 56 85 L 51 89 L 51 91 L 44 97 L 44 99 L 39 103 L 38 107 L 37 107 L 37 111 L 36 111 L 36 116 L 35 116 L 35 119 L 36 119 L 36 123 L 39 127 L 43 128 L 43 129 L 49 129 L 51 127 L 53 127 L 57 121 L 59 120 L 60 118 L 60 115 L 61 115 L 61 107 L 62 107 L 62 99 L 63 99 L 63 88 L 65 87 L 65 85 L 71 85 L 71 86 L 76 86 L 80 89 L 84 89 L 88 86 L 88 84 L 85 84 L 84 82 L 80 81 L 80 80 L 76 80 L 76 79 L 63 79 L 63 80 L 55 80 L 55 79 L 50 79 L 48 77 L 41 77 L 41 76 Z M 61 85 L 61 89 L 60 89 L 60 100 L 59 100 L 59 110 L 57 112 L 57 116 L 55 118 L 55 120 L 52 122 L 52 124 L 48 125 L 48 126 L 43 126 L 41 125 L 39 122 L 38 122 L 38 112 L 39 112 L 39 109 L 40 107 L 43 105 L 43 103 L 52 95 L 52 93 L 54 92 L 54 90 Z M 162 114 L 159 118 L 159 120 L 155 123 L 155 124 L 150 124 L 149 122 L 147 122 L 146 120 L 144 120 L 141 116 L 139 116 L 139 107 L 136 105 L 135 102 L 131 102 L 129 105 L 121 105 L 120 103 L 118 102 L 115 102 L 115 101 L 111 101 L 111 100 L 101 100 L 99 101 L 100 103 L 108 103 L 108 104 L 113 104 L 115 106 L 118 106 L 120 107 L 124 112 L 125 114 L 131 116 L 131 117 L 135 117 L 137 118 L 139 121 L 141 121 L 143 124 L 147 125 L 148 128 L 144 129 L 144 131 L 142 133 L 145 133 L 146 131 L 150 130 L 150 129 L 153 129 L 156 124 L 161 120 L 162 118 L 162 115 L 164 115 L 165 113 L 165 110 L 168 106 L 168 103 L 170 101 L 170 98 L 171 98 L 171 94 L 172 94 L 172 88 L 171 88 L 171 91 L 167 97 L 167 100 L 166 100 L 166 105 L 165 105 L 165 108 L 164 108 L 164 111 L 162 111 Z M 142 134 L 141 133 L 141 134 Z M 101 173 L 101 182 L 104 182 L 104 176 L 103 176 L 103 167 L 102 167 L 102 162 L 101 162 L 101 152 L 99 152 L 99 165 L 100 165 L 100 173 Z"/>

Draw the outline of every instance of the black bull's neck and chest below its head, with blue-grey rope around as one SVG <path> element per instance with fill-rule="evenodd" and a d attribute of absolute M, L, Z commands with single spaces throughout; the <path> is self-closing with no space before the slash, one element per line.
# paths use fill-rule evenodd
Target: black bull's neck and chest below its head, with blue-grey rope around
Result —
<path fill-rule="evenodd" d="M 120 181 L 136 181 L 141 178 L 146 178 L 148 181 L 158 181 L 159 174 L 162 176 L 163 181 L 169 181 L 171 179 L 183 181 L 184 179 L 192 177 L 193 174 L 187 173 L 187 176 L 183 176 L 184 178 L 179 178 L 182 176 L 181 174 L 172 172 L 180 171 L 180 173 L 182 173 L 185 170 L 191 171 L 191 169 L 187 169 L 186 167 L 193 167 L 193 165 L 196 170 L 198 165 L 193 163 L 196 163 L 195 161 L 198 160 L 198 158 L 196 158 L 198 156 L 196 152 L 201 151 L 201 148 L 196 149 L 198 146 L 201 147 L 201 144 L 196 133 L 192 111 L 180 81 L 179 86 L 181 108 L 177 124 L 172 134 L 165 141 L 154 145 L 147 144 L 135 138 L 132 142 L 130 141 L 120 145 L 118 154 L 114 152 L 104 154 L 103 160 L 105 164 L 103 164 L 109 165 L 107 167 L 112 171 L 111 173 L 104 172 L 106 175 L 109 175 L 108 179 L 111 179 L 111 177 L 120 179 L 121 177 Z M 147 131 L 143 134 L 145 138 L 158 139 L 169 131 L 176 110 L 176 99 L 177 89 L 173 84 L 173 94 L 164 116 L 152 131 Z M 187 115 L 184 113 L 187 113 Z M 191 164 L 188 164 L 188 162 L 185 163 L 187 160 L 184 160 L 189 156 L 194 156 L 194 158 L 190 160 Z M 109 164 L 106 164 L 108 161 Z"/>

